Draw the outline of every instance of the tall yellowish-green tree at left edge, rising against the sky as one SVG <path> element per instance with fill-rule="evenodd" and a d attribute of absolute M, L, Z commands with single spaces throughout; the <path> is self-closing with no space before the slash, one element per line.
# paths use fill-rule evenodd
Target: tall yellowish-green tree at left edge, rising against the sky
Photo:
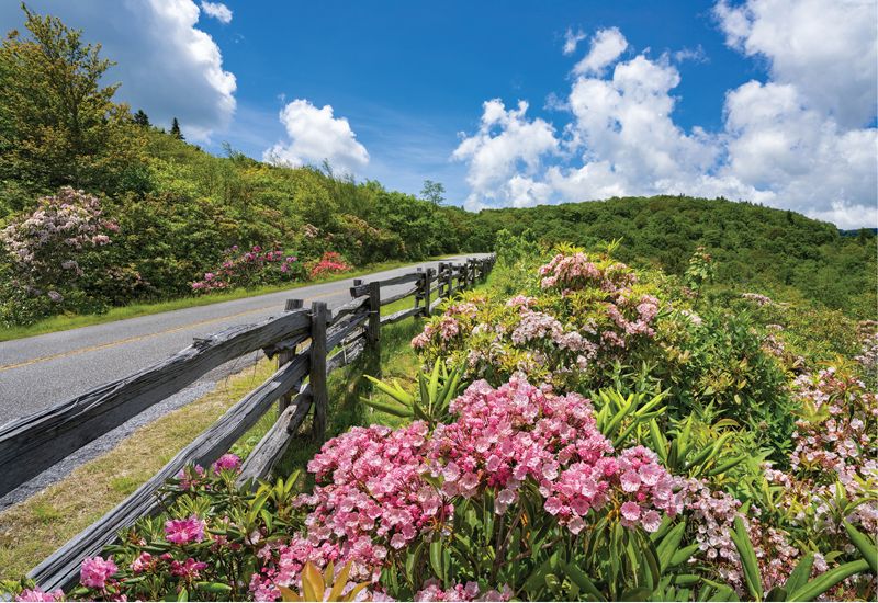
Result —
<path fill-rule="evenodd" d="M 22 8 L 27 32 L 0 45 L 0 181 L 114 190 L 142 141 L 113 102 L 119 83 L 101 86 L 113 62 L 79 30 Z"/>

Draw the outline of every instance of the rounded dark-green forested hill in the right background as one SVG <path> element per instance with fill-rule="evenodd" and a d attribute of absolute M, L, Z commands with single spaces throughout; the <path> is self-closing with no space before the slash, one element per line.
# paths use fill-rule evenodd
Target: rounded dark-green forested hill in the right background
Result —
<path fill-rule="evenodd" d="M 876 311 L 875 234 L 842 236 L 793 212 L 683 196 L 487 209 L 468 243 L 493 248 L 502 229 L 585 247 L 623 239 L 621 260 L 678 275 L 702 246 L 717 260 L 718 284 L 812 299 L 860 318 Z"/>

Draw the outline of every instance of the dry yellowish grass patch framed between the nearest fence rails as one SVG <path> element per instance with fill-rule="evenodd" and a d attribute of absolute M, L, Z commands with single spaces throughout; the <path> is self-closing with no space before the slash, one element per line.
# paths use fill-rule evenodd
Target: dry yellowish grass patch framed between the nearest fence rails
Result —
<path fill-rule="evenodd" d="M 142 426 L 109 453 L 0 513 L 0 579 L 20 578 L 100 519 L 274 368 L 263 359 L 224 379 L 206 396 Z"/>

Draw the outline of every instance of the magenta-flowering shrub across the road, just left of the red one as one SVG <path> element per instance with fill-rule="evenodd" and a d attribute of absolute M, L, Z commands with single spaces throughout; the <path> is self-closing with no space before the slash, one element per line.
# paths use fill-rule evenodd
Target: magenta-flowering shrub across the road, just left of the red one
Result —
<path fill-rule="evenodd" d="M 275 247 L 264 251 L 254 246 L 241 252 L 237 246 L 225 251 L 223 263 L 205 272 L 204 278 L 192 283 L 192 291 L 210 293 L 226 288 L 252 287 L 292 282 L 304 276 L 304 268 L 296 255 L 290 255 Z"/>

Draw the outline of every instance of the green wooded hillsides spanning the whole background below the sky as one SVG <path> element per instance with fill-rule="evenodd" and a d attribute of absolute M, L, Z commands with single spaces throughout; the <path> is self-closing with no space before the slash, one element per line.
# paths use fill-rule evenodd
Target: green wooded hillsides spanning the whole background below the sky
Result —
<path fill-rule="evenodd" d="M 842 237 L 791 212 L 688 197 L 475 214 L 328 164 L 274 166 L 228 145 L 217 157 L 176 120 L 166 132 L 115 102 L 120 84 L 103 86 L 113 64 L 79 32 L 30 13 L 27 29 L 0 48 L 0 323 L 487 251 L 504 230 L 623 239 L 620 259 L 672 274 L 703 246 L 720 285 L 875 314 L 874 232 Z"/>

